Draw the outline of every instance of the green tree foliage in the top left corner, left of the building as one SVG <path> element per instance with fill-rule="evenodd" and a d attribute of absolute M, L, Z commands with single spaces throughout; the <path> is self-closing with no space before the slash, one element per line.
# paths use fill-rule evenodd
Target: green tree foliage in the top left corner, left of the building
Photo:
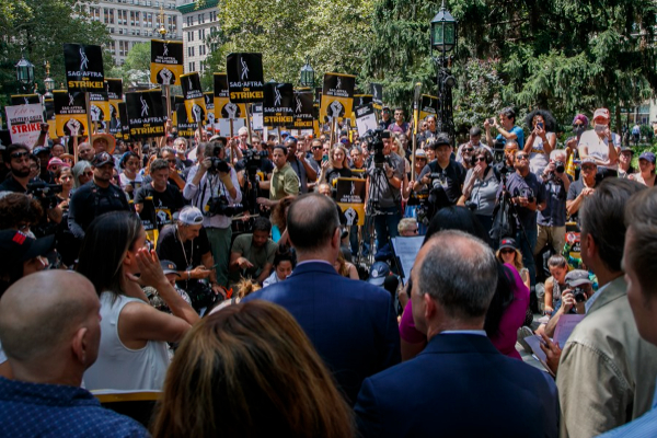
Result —
<path fill-rule="evenodd" d="M 74 0 L 0 0 L 0 95 L 7 103 L 18 92 L 14 65 L 25 58 L 34 64 L 34 76 L 44 91 L 44 62 L 50 62 L 50 76 L 57 88 L 65 82 L 65 43 L 106 45 L 107 28 L 90 21 L 87 2 Z M 113 65 L 108 53 L 103 56 L 105 70 Z"/>

